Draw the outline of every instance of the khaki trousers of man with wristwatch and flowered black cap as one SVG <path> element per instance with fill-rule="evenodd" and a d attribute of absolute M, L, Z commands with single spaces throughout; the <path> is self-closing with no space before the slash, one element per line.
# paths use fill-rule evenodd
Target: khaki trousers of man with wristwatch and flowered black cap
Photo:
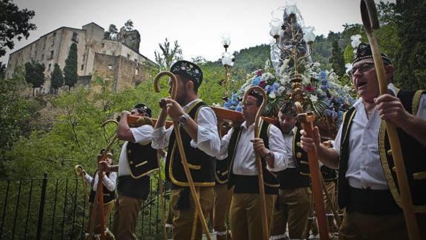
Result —
<path fill-rule="evenodd" d="M 190 207 L 185 210 L 174 208 L 179 200 L 179 194 L 183 189 L 173 189 L 170 196 L 173 215 L 173 239 L 174 240 L 201 240 L 202 225 L 196 212 L 194 200 L 190 197 Z M 214 187 L 196 187 L 204 218 L 208 219 L 213 208 Z"/>

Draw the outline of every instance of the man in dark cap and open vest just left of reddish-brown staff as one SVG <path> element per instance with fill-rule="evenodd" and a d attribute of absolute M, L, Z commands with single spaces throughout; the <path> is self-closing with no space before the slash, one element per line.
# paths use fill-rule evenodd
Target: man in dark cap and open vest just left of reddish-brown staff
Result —
<path fill-rule="evenodd" d="M 281 146 L 288 152 L 288 165 L 277 173 L 278 199 L 274 209 L 271 240 L 304 239 L 311 207 L 309 165 L 306 152 L 300 147 L 300 126 L 297 124 L 294 103 L 286 101 L 278 112 L 284 141 Z"/>

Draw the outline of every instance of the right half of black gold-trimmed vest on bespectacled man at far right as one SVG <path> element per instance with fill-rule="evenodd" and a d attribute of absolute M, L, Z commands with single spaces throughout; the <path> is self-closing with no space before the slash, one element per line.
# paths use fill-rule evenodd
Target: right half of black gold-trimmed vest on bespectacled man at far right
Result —
<path fill-rule="evenodd" d="M 425 91 L 423 91 L 423 90 L 419 90 L 419 91 L 416 91 L 416 92 L 401 90 L 400 92 L 398 92 L 398 98 L 401 100 L 406 111 L 415 115 L 418 111 L 419 104 L 420 104 L 420 97 L 422 96 L 423 93 L 425 93 Z M 401 144 L 402 149 L 403 150 L 406 149 L 406 147 L 404 147 L 404 146 L 406 146 L 407 144 L 409 144 L 412 148 L 412 146 L 414 146 L 414 143 L 412 143 L 412 144 L 410 144 L 410 143 L 411 143 L 411 141 L 415 141 L 415 140 L 413 140 L 412 137 L 408 136 L 400 128 L 396 128 L 396 129 L 398 131 L 398 138 L 400 140 L 400 144 Z M 403 138 L 403 139 L 401 140 L 401 138 Z M 381 166 L 383 168 L 383 174 L 386 178 L 387 184 L 389 186 L 389 190 L 392 193 L 392 196 L 394 197 L 396 204 L 400 208 L 402 208 L 401 195 L 399 193 L 399 186 L 397 185 L 396 168 L 395 168 L 394 160 L 392 159 L 392 152 L 390 150 L 390 145 L 389 145 L 388 135 L 387 135 L 387 131 L 386 131 L 386 122 L 385 121 L 380 122 L 379 143 L 378 144 L 379 144 L 380 163 L 381 163 Z M 414 148 L 419 148 L 419 147 L 421 148 L 422 146 L 421 145 L 420 146 L 417 146 L 417 145 L 414 146 Z M 409 149 L 411 149 L 411 148 L 409 148 Z M 423 146 L 423 149 L 426 149 L 426 148 Z M 413 149 L 413 151 L 415 151 L 415 150 L 416 149 Z M 424 151 L 420 151 L 420 152 L 424 152 Z M 415 154 L 415 155 L 417 155 L 417 154 Z M 417 155 L 417 156 L 421 156 L 421 155 Z M 405 154 L 405 156 L 404 156 L 404 161 L 407 161 L 407 160 L 405 160 L 406 157 L 407 157 L 407 154 Z M 425 205 L 425 202 L 424 202 L 424 198 L 423 198 L 423 200 L 416 201 L 416 199 L 418 198 L 416 196 L 418 196 L 417 194 L 420 193 L 416 190 L 420 190 L 422 188 L 422 186 L 424 187 L 425 179 L 416 179 L 415 173 L 413 173 L 413 172 L 419 171 L 419 169 L 412 169 L 414 167 L 412 164 L 405 162 L 405 166 L 406 166 L 406 171 L 407 171 L 407 178 L 408 178 L 409 184 L 410 184 L 410 191 L 411 191 L 411 197 L 413 199 L 414 211 L 415 212 L 426 212 L 426 205 Z M 420 171 L 426 171 L 425 166 L 423 166 L 423 167 L 417 166 L 417 167 L 420 168 Z M 416 180 L 418 181 L 417 184 L 415 182 Z M 421 183 L 421 181 L 422 181 L 422 183 Z M 420 187 L 420 189 L 418 189 L 418 187 Z M 423 195 L 423 193 L 420 193 L 420 195 Z M 420 198 L 422 198 L 422 197 L 420 196 L 419 199 Z M 420 202 L 420 205 L 416 205 L 415 204 L 416 202 Z"/>

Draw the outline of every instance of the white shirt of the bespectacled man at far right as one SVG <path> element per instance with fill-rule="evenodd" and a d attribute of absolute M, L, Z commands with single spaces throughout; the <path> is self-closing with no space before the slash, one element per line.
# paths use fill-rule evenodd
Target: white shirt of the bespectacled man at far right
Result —
<path fill-rule="evenodd" d="M 388 85 L 388 89 L 394 93 L 396 92 L 395 86 L 392 83 Z M 349 134 L 350 155 L 346 178 L 348 178 L 349 185 L 353 188 L 370 188 L 374 190 L 388 189 L 379 156 L 379 111 L 374 108 L 370 119 L 368 119 L 361 98 L 359 98 L 353 106 L 355 107 L 356 113 L 353 117 Z M 421 96 L 417 116 L 426 118 L 425 94 Z M 340 154 L 341 135 L 342 126 L 339 128 L 334 142 L 334 149 L 338 154 Z"/>

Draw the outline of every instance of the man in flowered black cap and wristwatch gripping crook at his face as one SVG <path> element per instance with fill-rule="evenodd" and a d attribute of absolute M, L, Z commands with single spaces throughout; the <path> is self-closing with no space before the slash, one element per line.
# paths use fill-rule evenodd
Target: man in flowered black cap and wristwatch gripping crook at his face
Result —
<path fill-rule="evenodd" d="M 202 227 L 183 170 L 176 136 L 173 128 L 166 130 L 164 125 L 167 115 L 179 122 L 188 167 L 207 219 L 213 206 L 214 156 L 220 150 L 217 119 L 213 110 L 198 99 L 198 87 L 203 80 L 201 69 L 196 64 L 178 61 L 170 71 L 178 80 L 177 97 L 176 100 L 161 99 L 162 110 L 152 132 L 152 147 L 160 149 L 168 145 L 165 173 L 166 180 L 172 182 L 173 239 L 200 240 Z"/>

